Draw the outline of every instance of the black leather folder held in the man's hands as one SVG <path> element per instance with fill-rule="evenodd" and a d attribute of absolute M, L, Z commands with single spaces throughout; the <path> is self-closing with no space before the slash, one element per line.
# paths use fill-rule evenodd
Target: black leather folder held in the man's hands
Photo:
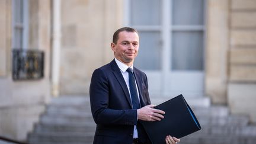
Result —
<path fill-rule="evenodd" d="M 201 129 L 199 121 L 185 101 L 178 95 L 155 107 L 165 111 L 161 121 L 140 121 L 153 144 L 165 143 L 167 135 L 181 138 Z"/>

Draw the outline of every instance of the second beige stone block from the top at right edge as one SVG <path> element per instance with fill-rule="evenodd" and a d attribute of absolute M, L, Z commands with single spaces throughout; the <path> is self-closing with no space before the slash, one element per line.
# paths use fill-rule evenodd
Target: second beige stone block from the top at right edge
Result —
<path fill-rule="evenodd" d="M 256 11 L 234 11 L 231 14 L 232 28 L 255 28 Z"/>

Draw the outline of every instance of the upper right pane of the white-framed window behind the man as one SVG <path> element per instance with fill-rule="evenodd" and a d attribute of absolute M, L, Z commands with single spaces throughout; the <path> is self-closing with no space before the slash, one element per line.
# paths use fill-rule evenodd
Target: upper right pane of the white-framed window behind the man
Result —
<path fill-rule="evenodd" d="M 172 24 L 203 25 L 204 0 L 174 0 L 172 4 Z"/>

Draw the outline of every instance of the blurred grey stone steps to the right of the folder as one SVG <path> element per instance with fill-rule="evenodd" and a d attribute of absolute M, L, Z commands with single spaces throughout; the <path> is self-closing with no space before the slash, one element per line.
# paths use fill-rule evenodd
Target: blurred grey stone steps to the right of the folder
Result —
<path fill-rule="evenodd" d="M 229 114 L 224 106 L 192 108 L 201 130 L 181 138 L 180 144 L 252 144 L 256 143 L 256 126 L 247 116 Z"/>

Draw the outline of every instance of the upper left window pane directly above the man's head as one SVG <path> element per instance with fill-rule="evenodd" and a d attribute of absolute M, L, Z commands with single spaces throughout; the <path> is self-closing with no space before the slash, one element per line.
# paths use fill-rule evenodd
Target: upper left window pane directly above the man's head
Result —
<path fill-rule="evenodd" d="M 130 8 L 131 25 L 161 24 L 161 1 L 132 0 Z"/>

